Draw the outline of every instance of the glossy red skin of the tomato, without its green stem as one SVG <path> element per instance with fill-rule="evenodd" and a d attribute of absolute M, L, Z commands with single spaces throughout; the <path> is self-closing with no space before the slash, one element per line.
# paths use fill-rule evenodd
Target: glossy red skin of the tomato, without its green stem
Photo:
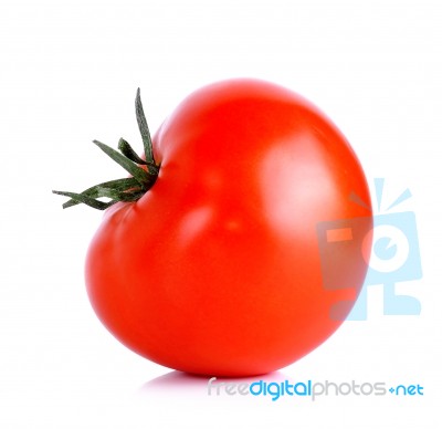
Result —
<path fill-rule="evenodd" d="M 355 300 L 366 265 L 355 238 L 339 264 L 354 287 L 325 287 L 317 226 L 371 226 L 341 133 L 288 90 L 231 80 L 189 95 L 152 142 L 157 182 L 106 210 L 87 253 L 104 325 L 158 364 L 214 376 L 276 370 L 322 344 L 343 322 L 330 308 Z"/>

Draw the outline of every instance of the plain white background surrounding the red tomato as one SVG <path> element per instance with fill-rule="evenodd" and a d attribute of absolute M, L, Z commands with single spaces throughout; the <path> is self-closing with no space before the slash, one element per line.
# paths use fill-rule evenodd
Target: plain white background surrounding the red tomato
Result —
<path fill-rule="evenodd" d="M 441 427 L 442 6 L 439 0 L 2 1 L 0 4 L 0 427 Z M 317 104 L 386 201 L 418 220 L 423 278 L 400 285 L 417 316 L 369 317 L 275 377 L 421 384 L 420 397 L 208 397 L 133 354 L 97 321 L 83 262 L 102 213 L 51 189 L 119 172 L 92 145 L 139 145 L 206 83 L 253 76 Z M 438 426 L 439 425 L 439 426 Z"/>

